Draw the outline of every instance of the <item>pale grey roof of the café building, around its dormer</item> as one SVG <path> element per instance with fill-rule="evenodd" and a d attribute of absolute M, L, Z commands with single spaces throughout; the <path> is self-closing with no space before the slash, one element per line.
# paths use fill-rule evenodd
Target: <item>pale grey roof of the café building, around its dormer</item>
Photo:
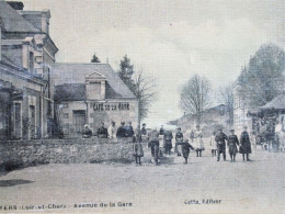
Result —
<path fill-rule="evenodd" d="M 68 64 L 56 63 L 53 67 L 55 85 L 86 83 L 86 77 L 99 72 L 106 78 L 106 98 L 136 99 L 123 80 L 109 64 Z"/>

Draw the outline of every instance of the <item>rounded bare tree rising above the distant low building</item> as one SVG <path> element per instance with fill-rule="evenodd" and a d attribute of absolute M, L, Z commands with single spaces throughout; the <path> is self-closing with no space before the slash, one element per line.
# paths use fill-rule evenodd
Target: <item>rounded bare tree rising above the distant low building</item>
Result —
<path fill-rule="evenodd" d="M 201 112 L 210 104 L 210 82 L 205 77 L 194 75 L 182 88 L 180 105 L 185 112 L 196 114 L 201 121 Z"/>

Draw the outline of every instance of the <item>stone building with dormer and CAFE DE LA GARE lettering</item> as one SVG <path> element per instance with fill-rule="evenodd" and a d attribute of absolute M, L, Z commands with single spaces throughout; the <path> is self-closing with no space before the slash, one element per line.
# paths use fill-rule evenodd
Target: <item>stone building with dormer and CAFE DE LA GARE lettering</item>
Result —
<path fill-rule="evenodd" d="M 54 65 L 58 121 L 65 136 L 78 136 L 84 124 L 93 133 L 101 122 L 138 124 L 138 100 L 109 64 Z"/>

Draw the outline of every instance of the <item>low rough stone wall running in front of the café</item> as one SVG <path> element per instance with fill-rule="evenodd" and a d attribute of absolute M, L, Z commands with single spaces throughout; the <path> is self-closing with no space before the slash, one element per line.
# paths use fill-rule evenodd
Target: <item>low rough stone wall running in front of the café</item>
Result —
<path fill-rule="evenodd" d="M 0 143 L 0 168 L 12 170 L 41 164 L 130 162 L 132 138 L 37 139 Z M 10 169 L 11 168 L 11 169 Z"/>

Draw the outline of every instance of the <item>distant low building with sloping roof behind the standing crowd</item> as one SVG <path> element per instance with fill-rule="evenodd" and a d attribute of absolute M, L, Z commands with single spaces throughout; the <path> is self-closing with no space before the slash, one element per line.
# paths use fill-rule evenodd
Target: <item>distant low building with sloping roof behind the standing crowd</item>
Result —
<path fill-rule="evenodd" d="M 201 113 L 200 123 L 197 114 L 185 114 L 168 124 L 176 125 L 181 127 L 183 132 L 195 129 L 196 125 L 200 124 L 205 136 L 210 136 L 212 132 L 216 131 L 218 126 L 224 127 L 225 132 L 231 128 L 228 108 L 224 104 L 203 111 Z"/>

